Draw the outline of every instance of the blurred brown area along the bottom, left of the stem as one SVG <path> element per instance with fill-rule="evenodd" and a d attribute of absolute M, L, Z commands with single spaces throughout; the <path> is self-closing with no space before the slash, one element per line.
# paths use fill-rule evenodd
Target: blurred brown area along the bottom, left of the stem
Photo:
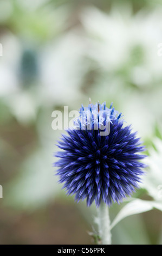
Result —
<path fill-rule="evenodd" d="M 90 229 L 73 204 L 60 200 L 31 213 L 0 210 L 0 244 L 88 245 Z"/>

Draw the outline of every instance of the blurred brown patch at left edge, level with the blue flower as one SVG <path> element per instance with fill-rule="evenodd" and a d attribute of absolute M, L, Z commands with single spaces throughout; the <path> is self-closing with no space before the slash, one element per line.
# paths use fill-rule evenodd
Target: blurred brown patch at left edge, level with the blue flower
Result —
<path fill-rule="evenodd" d="M 22 126 L 14 118 L 5 125 L 1 122 L 0 138 L 1 182 L 7 182 L 17 173 L 18 166 L 25 156 L 36 147 L 37 138 L 33 126 Z"/>

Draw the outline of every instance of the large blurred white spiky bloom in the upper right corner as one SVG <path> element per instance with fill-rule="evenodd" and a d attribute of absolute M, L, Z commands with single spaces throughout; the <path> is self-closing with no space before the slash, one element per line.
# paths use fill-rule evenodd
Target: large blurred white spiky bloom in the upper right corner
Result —
<path fill-rule="evenodd" d="M 94 7 L 85 9 L 81 21 L 89 38 L 87 55 L 105 71 L 117 71 L 126 63 L 129 70 L 132 51 L 139 47 L 144 56 L 141 64 L 131 66 L 130 82 L 141 87 L 148 86 L 153 79 L 162 79 L 162 58 L 157 54 L 158 43 L 162 42 L 161 11 L 160 6 L 150 13 L 141 10 L 135 15 L 131 15 L 129 8 L 113 9 L 109 14 Z"/>

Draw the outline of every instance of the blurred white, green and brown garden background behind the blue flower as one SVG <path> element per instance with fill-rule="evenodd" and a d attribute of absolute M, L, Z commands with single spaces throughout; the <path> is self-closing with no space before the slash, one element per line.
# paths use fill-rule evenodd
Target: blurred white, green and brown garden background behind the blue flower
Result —
<path fill-rule="evenodd" d="M 89 244 L 95 206 L 57 183 L 54 110 L 113 102 L 147 146 L 133 197 L 162 184 L 162 1 L 0 1 L 0 243 Z M 162 51 L 161 51 L 162 53 Z M 122 208 L 113 204 L 111 219 Z M 162 200 L 161 200 L 162 204 Z M 162 213 L 122 220 L 113 244 L 161 244 Z"/>

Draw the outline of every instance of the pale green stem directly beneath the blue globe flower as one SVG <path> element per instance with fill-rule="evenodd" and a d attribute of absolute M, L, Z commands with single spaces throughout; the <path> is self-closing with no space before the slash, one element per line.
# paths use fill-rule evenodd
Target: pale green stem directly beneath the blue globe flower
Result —
<path fill-rule="evenodd" d="M 98 225 L 102 245 L 111 245 L 111 229 L 108 206 L 103 201 L 101 201 L 98 208 Z"/>

